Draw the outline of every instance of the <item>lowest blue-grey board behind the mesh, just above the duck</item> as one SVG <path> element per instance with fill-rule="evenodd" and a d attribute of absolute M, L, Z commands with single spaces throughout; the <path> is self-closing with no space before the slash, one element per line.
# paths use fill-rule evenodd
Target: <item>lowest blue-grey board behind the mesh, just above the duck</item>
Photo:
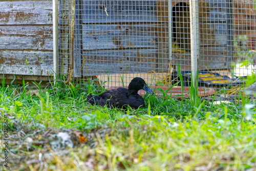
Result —
<path fill-rule="evenodd" d="M 120 72 L 151 72 L 159 68 L 159 49 L 89 51 L 83 66 L 83 76 Z M 161 69 L 167 68 L 162 67 Z M 168 65 L 168 63 L 165 63 Z"/>

